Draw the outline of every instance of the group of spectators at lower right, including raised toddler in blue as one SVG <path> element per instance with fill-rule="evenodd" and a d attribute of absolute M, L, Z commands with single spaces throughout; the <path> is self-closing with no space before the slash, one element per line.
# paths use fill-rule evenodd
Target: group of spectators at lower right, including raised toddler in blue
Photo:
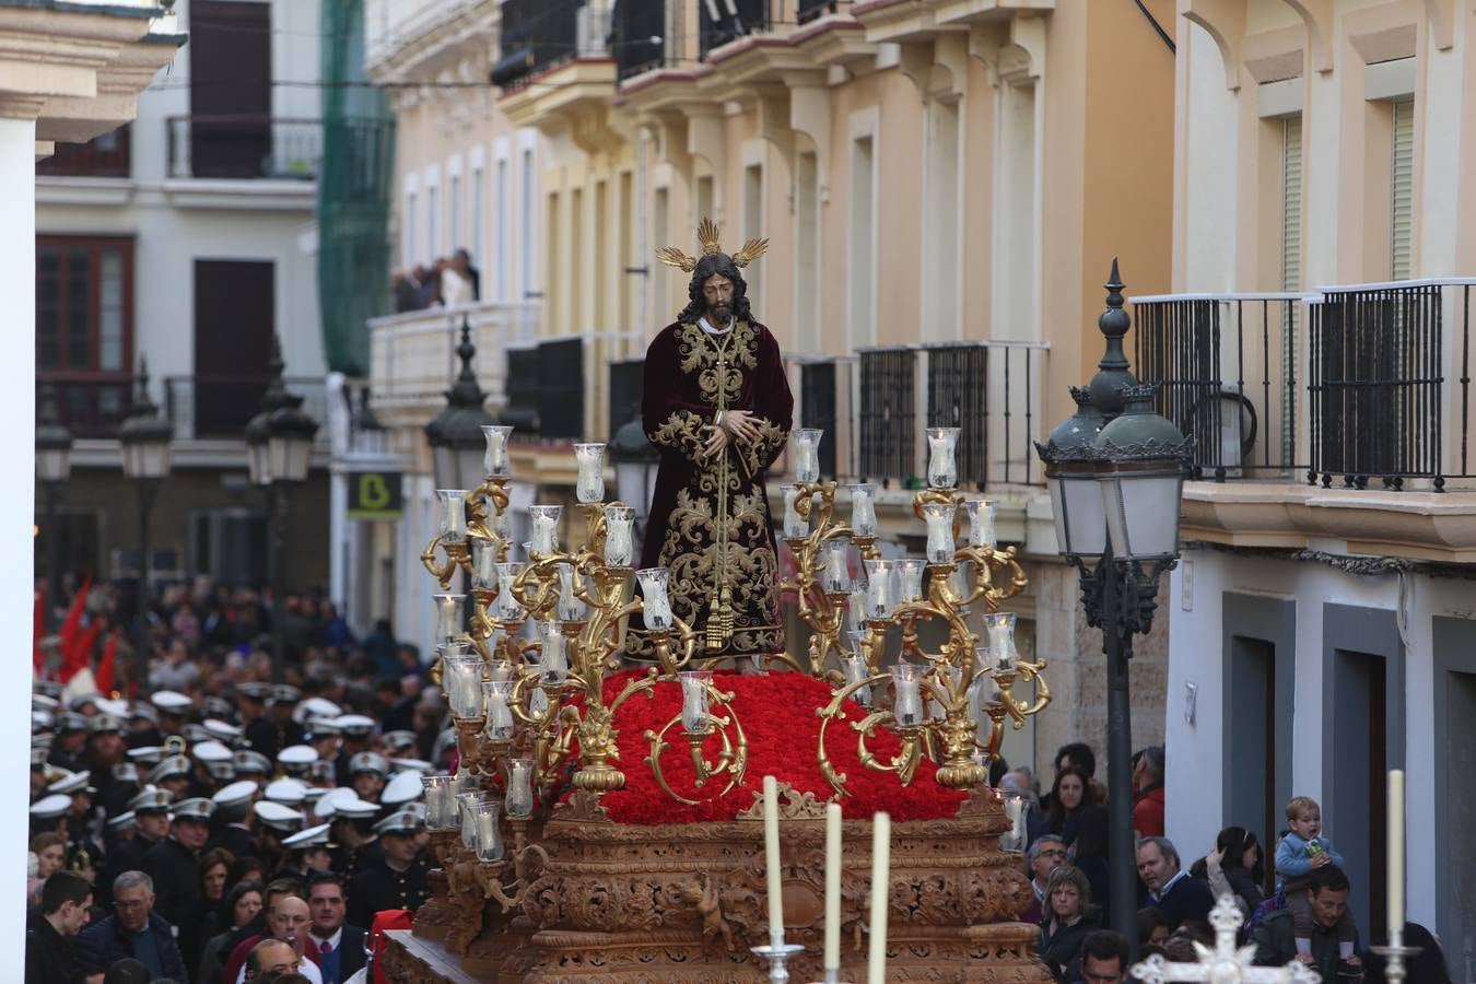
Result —
<path fill-rule="evenodd" d="M 1170 962 L 1197 962 L 1196 944 L 1215 944 L 1210 910 L 1230 897 L 1246 921 L 1240 943 L 1255 947 L 1256 963 L 1297 960 L 1328 984 L 1382 984 L 1384 962 L 1365 949 L 1353 925 L 1348 900 L 1355 887 L 1342 854 L 1322 835 L 1317 801 L 1294 797 L 1286 804 L 1286 829 L 1269 856 L 1255 832 L 1228 826 L 1185 865 L 1179 848 L 1163 836 L 1163 752 L 1150 746 L 1134 755 L 1139 959 L 1160 953 Z M 1038 953 L 1057 981 L 1131 981 L 1129 941 L 1107 928 L 1113 922 L 1108 816 L 1097 757 L 1091 746 L 1070 744 L 1057 752 L 1054 770 L 1049 792 L 1038 789 L 1027 769 L 1005 772 L 998 780 L 1004 792 L 1024 801 L 1018 826 L 1035 898 L 1020 918 L 1039 924 Z M 1429 929 L 1407 924 L 1404 938 L 1420 947 L 1407 980 L 1448 984 Z"/>

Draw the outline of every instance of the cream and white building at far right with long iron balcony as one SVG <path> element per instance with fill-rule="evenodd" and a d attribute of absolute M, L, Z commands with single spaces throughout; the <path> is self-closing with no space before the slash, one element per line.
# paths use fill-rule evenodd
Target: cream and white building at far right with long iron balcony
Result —
<path fill-rule="evenodd" d="M 1197 438 L 1172 612 L 1168 834 L 1274 845 L 1315 797 L 1362 941 L 1408 918 L 1476 974 L 1476 10 L 1179 0 L 1173 288 L 1135 370 Z"/>

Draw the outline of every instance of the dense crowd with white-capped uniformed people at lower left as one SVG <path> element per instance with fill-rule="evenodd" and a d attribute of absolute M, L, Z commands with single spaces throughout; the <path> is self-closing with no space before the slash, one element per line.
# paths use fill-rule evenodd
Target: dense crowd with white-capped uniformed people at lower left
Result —
<path fill-rule="evenodd" d="M 72 611 L 134 634 L 125 603 L 87 586 Z M 170 592 L 145 617 L 133 699 L 133 655 L 123 693 L 100 692 L 92 670 L 46 679 L 65 646 L 38 648 L 28 983 L 342 984 L 366 971 L 376 913 L 428 897 L 421 776 L 453 764 L 455 733 L 421 654 L 387 623 L 356 639 L 322 597 L 275 608 Z"/>

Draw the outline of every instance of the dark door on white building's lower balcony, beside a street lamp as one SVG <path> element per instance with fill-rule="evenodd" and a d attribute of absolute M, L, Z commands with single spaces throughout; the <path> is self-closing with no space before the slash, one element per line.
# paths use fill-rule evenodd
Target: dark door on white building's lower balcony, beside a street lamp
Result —
<path fill-rule="evenodd" d="M 251 260 L 195 261 L 195 378 L 170 382 L 182 434 L 239 438 L 261 409 L 276 330 L 276 270 Z"/>

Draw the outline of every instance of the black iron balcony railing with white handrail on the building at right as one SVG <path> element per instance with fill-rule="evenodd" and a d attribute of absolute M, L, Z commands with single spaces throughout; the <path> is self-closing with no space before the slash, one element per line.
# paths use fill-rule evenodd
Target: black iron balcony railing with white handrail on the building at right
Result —
<path fill-rule="evenodd" d="M 1476 478 L 1473 286 L 1135 298 L 1135 367 L 1163 384 L 1160 413 L 1194 437 L 1194 478 L 1441 491 Z"/>

